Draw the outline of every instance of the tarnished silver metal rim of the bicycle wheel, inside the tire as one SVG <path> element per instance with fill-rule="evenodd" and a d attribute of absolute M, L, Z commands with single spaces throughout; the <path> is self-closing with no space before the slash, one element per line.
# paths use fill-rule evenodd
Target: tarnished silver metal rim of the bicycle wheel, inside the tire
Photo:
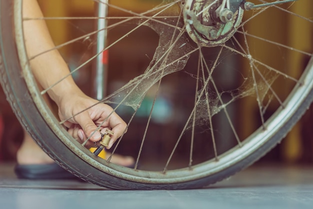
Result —
<path fill-rule="evenodd" d="M 44 101 L 41 99 L 40 92 L 36 88 L 36 82 L 31 74 L 28 60 L 25 53 L 25 46 L 23 44 L 22 30 L 22 18 L 21 18 L 21 3 L 22 0 L 14 1 L 14 24 L 15 24 L 15 40 L 17 43 L 18 55 L 22 66 L 22 73 L 25 78 L 25 82 L 28 86 L 28 90 L 32 95 L 32 99 L 40 111 L 42 117 L 45 119 L 47 125 L 53 130 L 53 132 L 59 137 L 59 139 L 70 150 L 76 153 L 77 157 L 81 160 L 88 162 L 90 165 L 102 170 L 110 175 L 121 177 L 125 180 L 135 182 L 149 182 L 152 184 L 165 184 L 165 183 L 177 183 L 183 181 L 191 181 L 199 179 L 213 173 L 217 173 L 225 168 L 234 165 L 241 161 L 262 144 L 268 141 L 279 129 L 288 121 L 293 113 L 300 106 L 309 90 L 313 88 L 313 69 L 307 67 L 305 73 L 302 74 L 300 81 L 301 85 L 296 85 L 290 96 L 284 102 L 285 107 L 276 111 L 271 119 L 266 121 L 266 130 L 258 129 L 247 139 L 244 140 L 242 147 L 235 147 L 226 153 L 220 155 L 219 161 L 210 160 L 198 165 L 192 166 L 192 169 L 178 169 L 167 171 L 166 173 L 155 171 L 141 171 L 125 168 L 112 163 L 107 163 L 105 160 L 97 161 L 91 153 L 86 152 L 80 144 L 71 141 L 68 133 L 58 125 L 58 121 L 52 117 L 49 110 L 46 109 Z"/>

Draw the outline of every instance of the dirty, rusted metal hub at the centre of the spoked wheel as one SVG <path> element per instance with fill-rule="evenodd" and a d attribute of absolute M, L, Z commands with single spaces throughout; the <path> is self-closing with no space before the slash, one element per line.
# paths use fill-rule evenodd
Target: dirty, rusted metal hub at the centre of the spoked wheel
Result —
<path fill-rule="evenodd" d="M 186 0 L 183 19 L 189 37 L 205 47 L 225 43 L 242 20 L 244 0 Z"/>

